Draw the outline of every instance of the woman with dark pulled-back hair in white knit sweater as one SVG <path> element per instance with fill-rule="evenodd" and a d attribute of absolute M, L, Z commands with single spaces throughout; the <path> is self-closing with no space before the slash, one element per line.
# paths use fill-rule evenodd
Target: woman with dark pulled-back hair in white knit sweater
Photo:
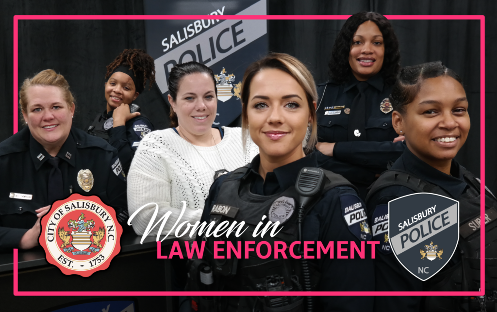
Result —
<path fill-rule="evenodd" d="M 258 154 L 251 140 L 242 140 L 241 128 L 212 128 L 217 88 L 211 69 L 197 62 L 176 65 L 168 86 L 171 128 L 145 136 L 128 174 L 129 214 L 146 204 L 157 203 L 156 224 L 170 211 L 163 235 L 180 216 L 181 201 L 186 201 L 186 209 L 177 224 L 195 224 L 200 220 L 215 172 L 244 166 Z M 155 205 L 149 205 L 133 218 L 137 234 L 144 234 L 155 210 Z M 157 235 L 160 224 L 149 235 Z M 174 231 L 171 236 L 174 237 Z"/>

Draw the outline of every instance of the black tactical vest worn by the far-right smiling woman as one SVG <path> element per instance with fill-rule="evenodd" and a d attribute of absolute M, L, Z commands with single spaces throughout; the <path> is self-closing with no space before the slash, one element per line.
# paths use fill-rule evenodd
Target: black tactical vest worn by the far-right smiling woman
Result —
<path fill-rule="evenodd" d="M 480 289 L 480 225 L 482 222 L 480 220 L 480 179 L 463 166 L 460 166 L 460 170 L 464 181 L 470 188 L 456 199 L 460 205 L 459 248 L 440 272 L 423 282 L 424 291 L 479 291 Z M 410 173 L 388 170 L 370 186 L 366 203 L 379 190 L 392 185 L 404 186 L 416 193 L 427 192 L 452 198 L 439 186 L 423 181 Z M 491 294 L 492 291 L 497 290 L 497 200 L 487 188 L 485 188 L 485 209 L 485 289 L 488 290 L 488 294 Z M 460 303 L 453 302 L 453 298 L 449 297 L 427 297 L 424 300 L 423 311 L 445 311 L 444 309 L 447 311 L 480 311 L 480 309 L 472 310 L 467 307 L 466 304 L 469 305 L 467 300 L 464 307 L 459 307 Z"/>

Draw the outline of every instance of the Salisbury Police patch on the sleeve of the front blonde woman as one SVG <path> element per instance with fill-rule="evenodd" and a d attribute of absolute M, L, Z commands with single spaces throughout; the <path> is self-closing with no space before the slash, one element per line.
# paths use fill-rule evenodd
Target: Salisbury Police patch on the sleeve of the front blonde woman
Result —
<path fill-rule="evenodd" d="M 371 230 L 362 200 L 353 194 L 341 194 L 340 204 L 343 219 L 350 232 L 361 240 L 370 240 Z"/>

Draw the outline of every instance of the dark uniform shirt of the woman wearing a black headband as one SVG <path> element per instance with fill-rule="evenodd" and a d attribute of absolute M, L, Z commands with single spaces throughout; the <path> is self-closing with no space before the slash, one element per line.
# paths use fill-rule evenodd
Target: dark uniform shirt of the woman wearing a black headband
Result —
<path fill-rule="evenodd" d="M 143 114 L 128 120 L 124 126 L 113 128 L 113 119 L 110 119 L 113 112 L 104 111 L 98 114 L 91 126 L 86 129 L 88 134 L 101 137 L 117 149 L 124 173 L 127 174 L 140 141 L 155 128 Z"/>

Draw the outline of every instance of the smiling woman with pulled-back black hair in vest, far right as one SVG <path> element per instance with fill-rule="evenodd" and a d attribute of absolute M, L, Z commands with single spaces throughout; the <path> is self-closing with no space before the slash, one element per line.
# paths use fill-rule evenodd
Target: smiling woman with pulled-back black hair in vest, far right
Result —
<path fill-rule="evenodd" d="M 460 236 L 452 259 L 435 276 L 421 282 L 396 259 L 385 231 L 373 233 L 373 240 L 380 241 L 375 260 L 376 290 L 478 291 L 480 231 L 471 224 L 480 220 L 480 180 L 454 159 L 470 129 L 468 99 L 462 80 L 441 62 L 406 67 L 397 78 L 390 102 L 394 107 L 394 129 L 405 136 L 407 149 L 371 186 L 367 195 L 373 229 L 388 220 L 389 201 L 429 192 L 459 201 Z M 494 221 L 497 201 L 490 191 L 485 189 L 484 194 L 486 213 L 492 216 L 485 226 L 485 238 L 489 242 L 485 257 L 487 272 L 493 272 L 497 267 L 494 260 L 497 248 L 493 245 L 497 237 Z M 446 257 L 450 257 L 450 253 Z M 488 293 L 497 289 L 493 273 L 487 275 L 485 284 Z M 420 297 L 377 297 L 375 311 L 480 311 L 477 299 L 468 302 L 468 298 L 454 298 L 426 297 L 421 303 Z"/>

